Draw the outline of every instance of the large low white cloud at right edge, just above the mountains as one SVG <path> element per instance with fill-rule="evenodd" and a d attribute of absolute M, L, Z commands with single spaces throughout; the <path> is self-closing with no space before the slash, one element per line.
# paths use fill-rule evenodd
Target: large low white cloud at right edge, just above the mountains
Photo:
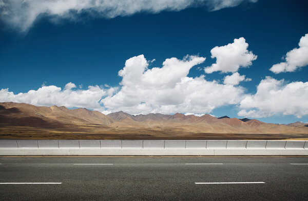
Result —
<path fill-rule="evenodd" d="M 254 95 L 247 95 L 240 103 L 239 116 L 267 117 L 272 115 L 295 115 L 301 118 L 308 114 L 308 82 L 285 84 L 267 76 L 257 87 Z M 246 111 L 246 109 L 250 109 Z"/>

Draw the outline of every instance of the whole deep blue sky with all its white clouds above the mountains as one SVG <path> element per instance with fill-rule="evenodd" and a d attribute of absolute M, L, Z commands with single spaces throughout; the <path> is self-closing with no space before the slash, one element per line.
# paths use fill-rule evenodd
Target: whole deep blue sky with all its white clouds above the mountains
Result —
<path fill-rule="evenodd" d="M 307 123 L 307 7 L 0 0 L 0 102 Z"/>

